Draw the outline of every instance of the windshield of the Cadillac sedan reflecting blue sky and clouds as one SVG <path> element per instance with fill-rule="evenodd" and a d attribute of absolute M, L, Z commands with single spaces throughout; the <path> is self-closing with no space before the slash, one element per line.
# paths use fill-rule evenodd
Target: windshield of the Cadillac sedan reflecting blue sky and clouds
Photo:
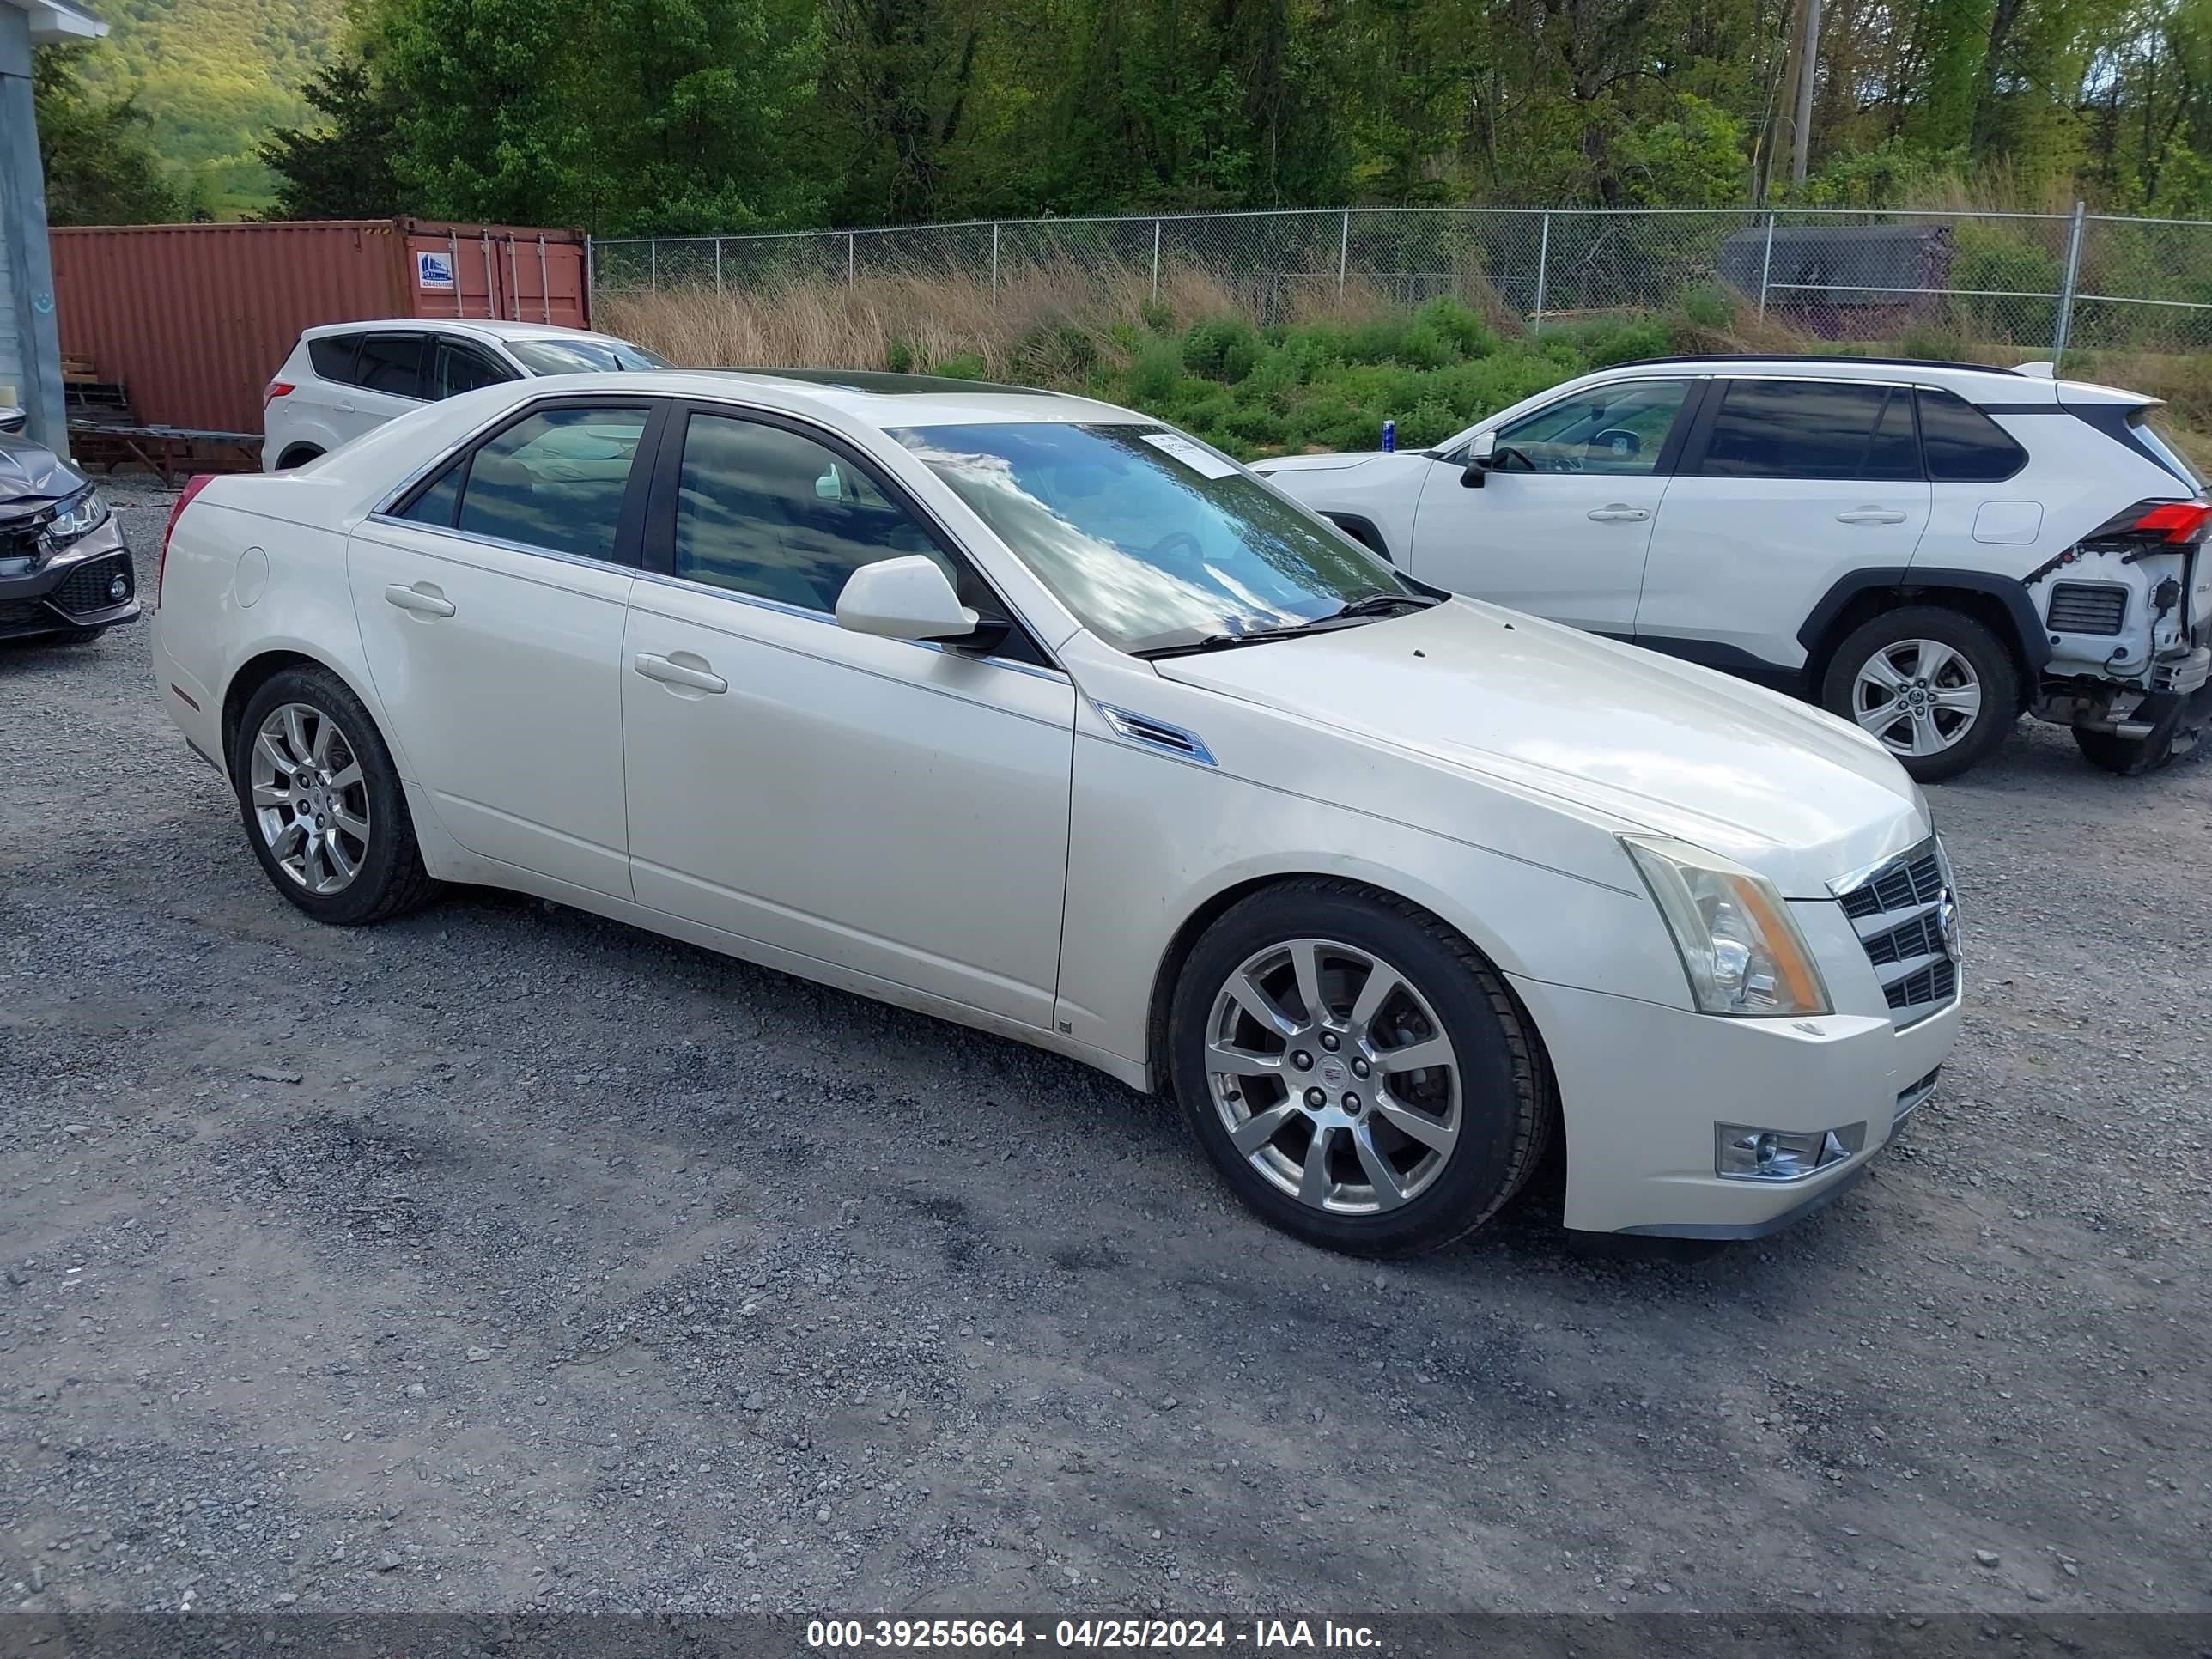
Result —
<path fill-rule="evenodd" d="M 1360 599 L 1425 602 L 1367 549 L 1177 431 L 1037 422 L 891 436 L 1121 650 L 1296 628 Z"/>

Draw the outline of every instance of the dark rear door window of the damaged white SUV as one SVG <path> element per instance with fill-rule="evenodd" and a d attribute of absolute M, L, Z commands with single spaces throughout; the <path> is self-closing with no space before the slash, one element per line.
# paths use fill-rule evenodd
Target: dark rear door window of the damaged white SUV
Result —
<path fill-rule="evenodd" d="M 1854 380 L 1732 380 L 1699 473 L 1920 478 L 1911 392 Z"/>

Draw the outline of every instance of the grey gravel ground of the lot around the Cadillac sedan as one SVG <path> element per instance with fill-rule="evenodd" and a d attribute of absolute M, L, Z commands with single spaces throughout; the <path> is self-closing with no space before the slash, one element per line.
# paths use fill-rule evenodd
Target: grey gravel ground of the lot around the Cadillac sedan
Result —
<path fill-rule="evenodd" d="M 316 927 L 142 628 L 0 690 L 0 1606 L 2212 1608 L 2203 759 L 1933 792 L 1971 1020 L 1820 1217 L 1376 1267 L 1009 1042 Z"/>

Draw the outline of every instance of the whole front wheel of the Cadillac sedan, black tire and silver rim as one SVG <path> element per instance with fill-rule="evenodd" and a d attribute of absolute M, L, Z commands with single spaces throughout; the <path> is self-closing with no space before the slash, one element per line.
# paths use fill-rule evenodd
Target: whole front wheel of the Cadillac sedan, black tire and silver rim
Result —
<path fill-rule="evenodd" d="M 1281 883 L 1206 929 L 1168 1060 L 1230 1190 L 1329 1250 L 1398 1256 L 1473 1232 L 1551 1137 L 1551 1077 L 1498 971 L 1352 883 Z"/>

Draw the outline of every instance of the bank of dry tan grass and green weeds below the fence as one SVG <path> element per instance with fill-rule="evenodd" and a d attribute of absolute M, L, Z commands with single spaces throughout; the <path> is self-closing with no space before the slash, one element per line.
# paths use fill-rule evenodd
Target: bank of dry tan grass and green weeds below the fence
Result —
<path fill-rule="evenodd" d="M 1478 296 L 1480 299 L 1480 296 Z M 606 294 L 602 327 L 695 365 L 931 369 L 1086 392 L 1170 420 L 1232 456 L 1374 449 L 1383 420 L 1407 449 L 1610 363 L 1668 352 L 1854 352 L 2013 363 L 2020 352 L 1962 336 L 1836 345 L 1756 319 L 1721 290 L 1652 314 L 1524 321 L 1484 299 L 1389 305 L 1358 281 L 1287 296 L 1265 325 L 1245 296 L 1194 270 L 1037 268 L 998 290 L 967 276 L 876 274 Z M 2068 374 L 2172 400 L 2174 438 L 2212 460 L 2212 356 L 2086 354 Z"/>

